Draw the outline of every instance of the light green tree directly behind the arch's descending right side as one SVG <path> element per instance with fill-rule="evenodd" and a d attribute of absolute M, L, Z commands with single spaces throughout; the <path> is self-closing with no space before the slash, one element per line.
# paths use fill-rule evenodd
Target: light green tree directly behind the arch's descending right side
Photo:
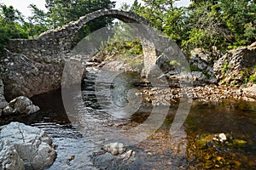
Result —
<path fill-rule="evenodd" d="M 148 19 L 151 26 L 164 31 L 167 36 L 181 45 L 187 30 L 184 22 L 186 9 L 175 7 L 175 0 L 143 0 L 143 3 L 142 6 L 135 1 L 131 11 Z"/>

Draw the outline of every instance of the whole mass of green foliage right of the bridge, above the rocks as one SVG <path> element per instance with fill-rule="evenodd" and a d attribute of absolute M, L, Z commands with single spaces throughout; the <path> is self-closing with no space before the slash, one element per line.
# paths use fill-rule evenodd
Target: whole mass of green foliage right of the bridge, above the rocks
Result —
<path fill-rule="evenodd" d="M 248 0 L 199 0 L 176 8 L 174 0 L 143 0 L 131 6 L 183 49 L 212 46 L 226 51 L 255 41 L 256 3 Z"/>

